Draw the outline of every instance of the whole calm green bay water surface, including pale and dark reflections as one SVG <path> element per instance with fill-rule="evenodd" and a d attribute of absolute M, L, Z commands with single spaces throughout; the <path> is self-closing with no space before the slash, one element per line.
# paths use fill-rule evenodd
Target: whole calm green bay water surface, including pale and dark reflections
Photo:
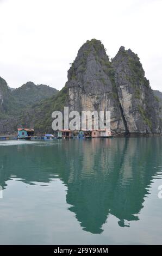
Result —
<path fill-rule="evenodd" d="M 161 244 L 161 178 L 161 137 L 0 141 L 0 244 Z"/>

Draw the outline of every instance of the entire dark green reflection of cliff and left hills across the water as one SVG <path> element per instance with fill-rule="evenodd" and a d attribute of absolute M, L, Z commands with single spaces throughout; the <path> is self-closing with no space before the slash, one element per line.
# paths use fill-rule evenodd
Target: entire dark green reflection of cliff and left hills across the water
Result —
<path fill-rule="evenodd" d="M 108 216 L 129 227 L 142 209 L 160 164 L 159 138 L 58 141 L 50 147 L 0 148 L 0 185 L 16 175 L 28 184 L 51 182 L 58 174 L 67 186 L 66 202 L 84 230 L 102 233 Z M 15 161 L 16 158 L 16 161 Z M 2 167 L 2 168 L 1 168 Z M 108 219 L 108 220 L 107 220 Z"/>

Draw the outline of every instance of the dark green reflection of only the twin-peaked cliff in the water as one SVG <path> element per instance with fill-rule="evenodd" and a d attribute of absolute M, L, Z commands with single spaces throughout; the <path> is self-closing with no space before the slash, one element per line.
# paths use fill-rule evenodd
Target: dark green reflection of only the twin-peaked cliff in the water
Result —
<path fill-rule="evenodd" d="M 67 181 L 66 200 L 73 205 L 70 210 L 76 214 L 84 230 L 91 233 L 102 232 L 102 224 L 109 214 L 119 218 L 121 227 L 129 227 L 124 220 L 138 220 L 135 215 L 148 193 L 146 188 L 155 164 L 153 159 L 145 162 L 152 150 L 144 150 L 140 139 L 100 143 L 103 147 L 98 147 L 96 140 L 92 141 L 92 147 L 83 147 L 79 166 L 76 158 L 71 160 L 70 179 Z"/>

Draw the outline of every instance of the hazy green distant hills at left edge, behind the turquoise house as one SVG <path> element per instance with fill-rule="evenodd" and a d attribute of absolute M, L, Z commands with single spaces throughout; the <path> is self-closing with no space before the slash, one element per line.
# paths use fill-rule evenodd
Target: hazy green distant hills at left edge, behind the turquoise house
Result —
<path fill-rule="evenodd" d="M 45 84 L 36 86 L 27 82 L 20 88 L 8 87 L 7 82 L 0 77 L 0 134 L 15 133 L 17 126 L 21 126 L 21 115 L 33 105 L 42 100 L 54 97 L 58 90 Z"/>

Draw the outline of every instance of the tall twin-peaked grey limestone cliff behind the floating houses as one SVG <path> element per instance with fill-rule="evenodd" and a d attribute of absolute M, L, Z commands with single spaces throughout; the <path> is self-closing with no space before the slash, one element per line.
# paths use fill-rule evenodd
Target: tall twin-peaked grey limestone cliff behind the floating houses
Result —
<path fill-rule="evenodd" d="M 87 41 L 68 70 L 68 106 L 110 111 L 111 130 L 160 132 L 159 104 L 138 56 L 121 47 L 110 62 L 101 41 Z"/>

